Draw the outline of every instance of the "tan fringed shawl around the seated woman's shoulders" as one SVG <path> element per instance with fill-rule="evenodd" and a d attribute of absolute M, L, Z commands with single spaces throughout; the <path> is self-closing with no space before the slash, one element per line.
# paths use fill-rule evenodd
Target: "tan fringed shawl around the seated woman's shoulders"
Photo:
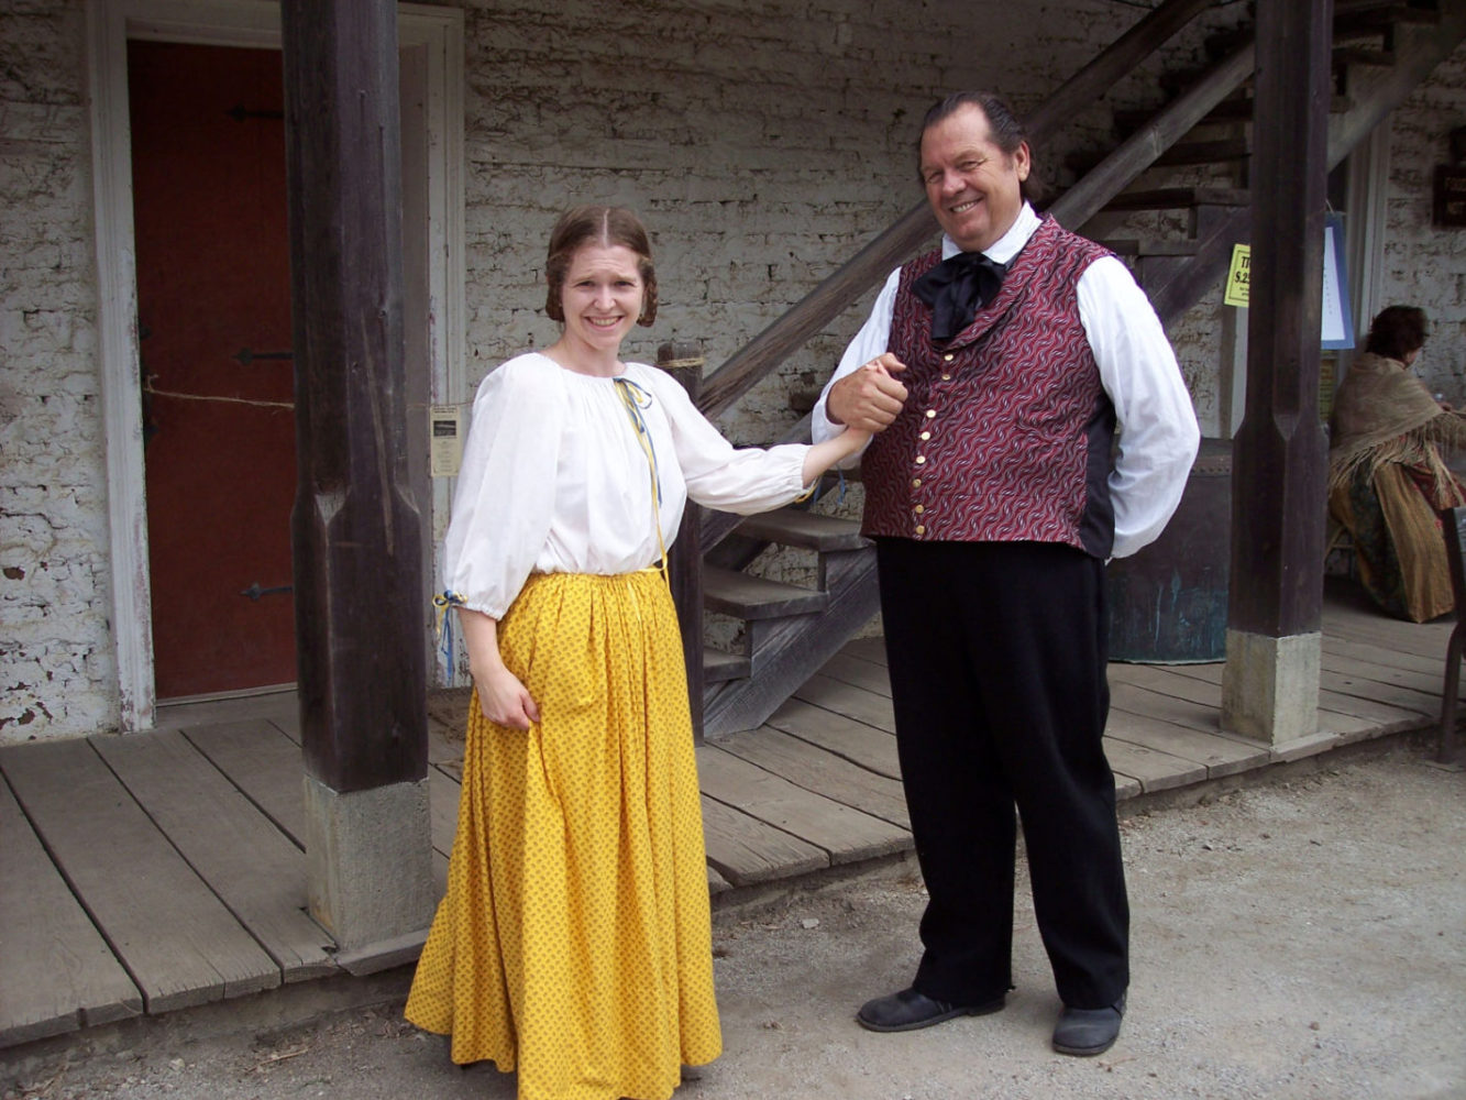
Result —
<path fill-rule="evenodd" d="M 1374 475 L 1388 462 L 1429 472 L 1438 507 L 1466 503 L 1441 455 L 1466 444 L 1466 415 L 1443 409 L 1399 359 L 1365 352 L 1334 399 L 1328 488 L 1347 485 L 1360 466 Z"/>

